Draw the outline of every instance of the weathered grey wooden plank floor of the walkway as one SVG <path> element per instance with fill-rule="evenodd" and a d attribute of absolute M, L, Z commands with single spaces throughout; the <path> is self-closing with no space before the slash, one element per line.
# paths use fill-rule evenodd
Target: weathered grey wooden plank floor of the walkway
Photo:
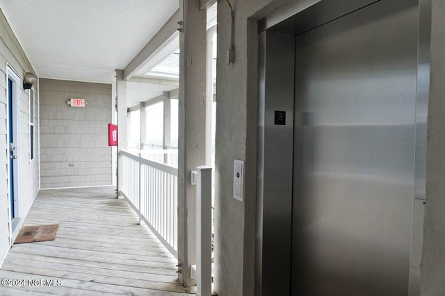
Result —
<path fill-rule="evenodd" d="M 193 295 L 177 281 L 175 257 L 114 191 L 40 191 L 24 225 L 58 223 L 56 240 L 14 245 L 0 279 L 54 279 L 54 286 L 0 285 L 0 295 Z"/>

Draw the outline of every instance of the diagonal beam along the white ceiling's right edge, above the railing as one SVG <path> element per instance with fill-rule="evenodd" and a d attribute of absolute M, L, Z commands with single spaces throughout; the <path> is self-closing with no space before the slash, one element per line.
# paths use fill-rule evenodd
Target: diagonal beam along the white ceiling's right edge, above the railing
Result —
<path fill-rule="evenodd" d="M 179 25 L 178 21 L 181 21 L 181 13 L 179 9 L 175 14 L 168 19 L 168 21 L 163 25 L 163 27 L 154 35 L 152 40 L 150 40 L 144 48 L 136 55 L 136 57 L 127 64 L 124 69 L 124 80 L 128 80 L 134 72 L 147 60 L 158 52 L 164 44 L 168 44 L 172 39 L 175 38 L 175 32 Z"/>

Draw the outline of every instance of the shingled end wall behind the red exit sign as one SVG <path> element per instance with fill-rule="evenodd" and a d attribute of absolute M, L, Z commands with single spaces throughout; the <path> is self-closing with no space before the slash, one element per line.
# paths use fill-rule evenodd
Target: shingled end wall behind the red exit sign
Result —
<path fill-rule="evenodd" d="M 84 98 L 86 107 L 70 107 Z M 41 188 L 111 185 L 111 84 L 40 79 Z"/>

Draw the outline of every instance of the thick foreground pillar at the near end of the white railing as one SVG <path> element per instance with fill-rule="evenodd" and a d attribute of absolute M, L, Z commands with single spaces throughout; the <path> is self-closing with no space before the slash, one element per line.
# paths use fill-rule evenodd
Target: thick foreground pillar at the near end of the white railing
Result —
<path fill-rule="evenodd" d="M 179 281 L 191 286 L 196 283 L 190 278 L 190 265 L 196 263 L 196 189 L 190 172 L 205 162 L 207 13 L 200 10 L 199 0 L 181 0 L 179 9 L 183 28 L 179 37 L 178 260 Z"/>

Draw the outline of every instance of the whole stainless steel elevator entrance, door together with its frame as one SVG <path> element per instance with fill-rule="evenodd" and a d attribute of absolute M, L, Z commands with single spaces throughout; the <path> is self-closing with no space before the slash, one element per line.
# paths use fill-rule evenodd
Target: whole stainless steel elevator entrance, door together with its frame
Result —
<path fill-rule="evenodd" d="M 255 295 L 420 294 L 430 8 L 293 1 L 259 22 Z M 273 112 L 291 105 L 293 62 L 289 136 Z"/>

